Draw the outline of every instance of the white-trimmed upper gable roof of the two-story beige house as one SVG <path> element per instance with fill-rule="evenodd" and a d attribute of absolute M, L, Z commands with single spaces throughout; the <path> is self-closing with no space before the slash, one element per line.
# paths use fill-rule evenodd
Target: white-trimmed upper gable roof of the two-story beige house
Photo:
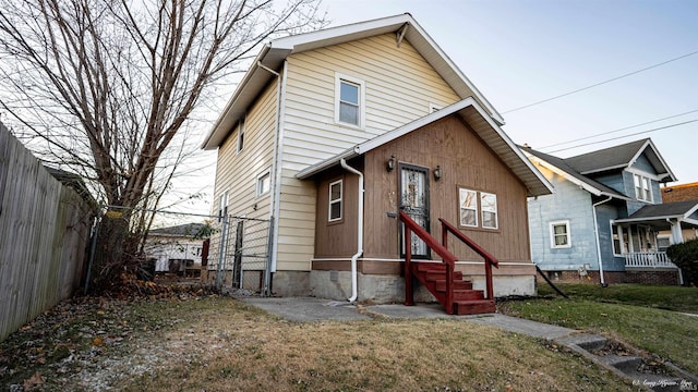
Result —
<path fill-rule="evenodd" d="M 203 149 L 215 149 L 244 115 L 264 86 L 276 75 L 268 70 L 279 70 L 292 53 L 339 45 L 387 33 L 396 33 L 399 39 L 407 39 L 412 47 L 434 68 L 460 98 L 474 97 L 486 108 L 489 115 L 504 124 L 502 115 L 492 107 L 478 88 L 466 77 L 446 53 L 422 29 L 409 13 L 366 22 L 326 28 L 317 32 L 278 38 L 266 44 L 246 74 L 238 84 L 232 97 L 209 131 Z"/>

